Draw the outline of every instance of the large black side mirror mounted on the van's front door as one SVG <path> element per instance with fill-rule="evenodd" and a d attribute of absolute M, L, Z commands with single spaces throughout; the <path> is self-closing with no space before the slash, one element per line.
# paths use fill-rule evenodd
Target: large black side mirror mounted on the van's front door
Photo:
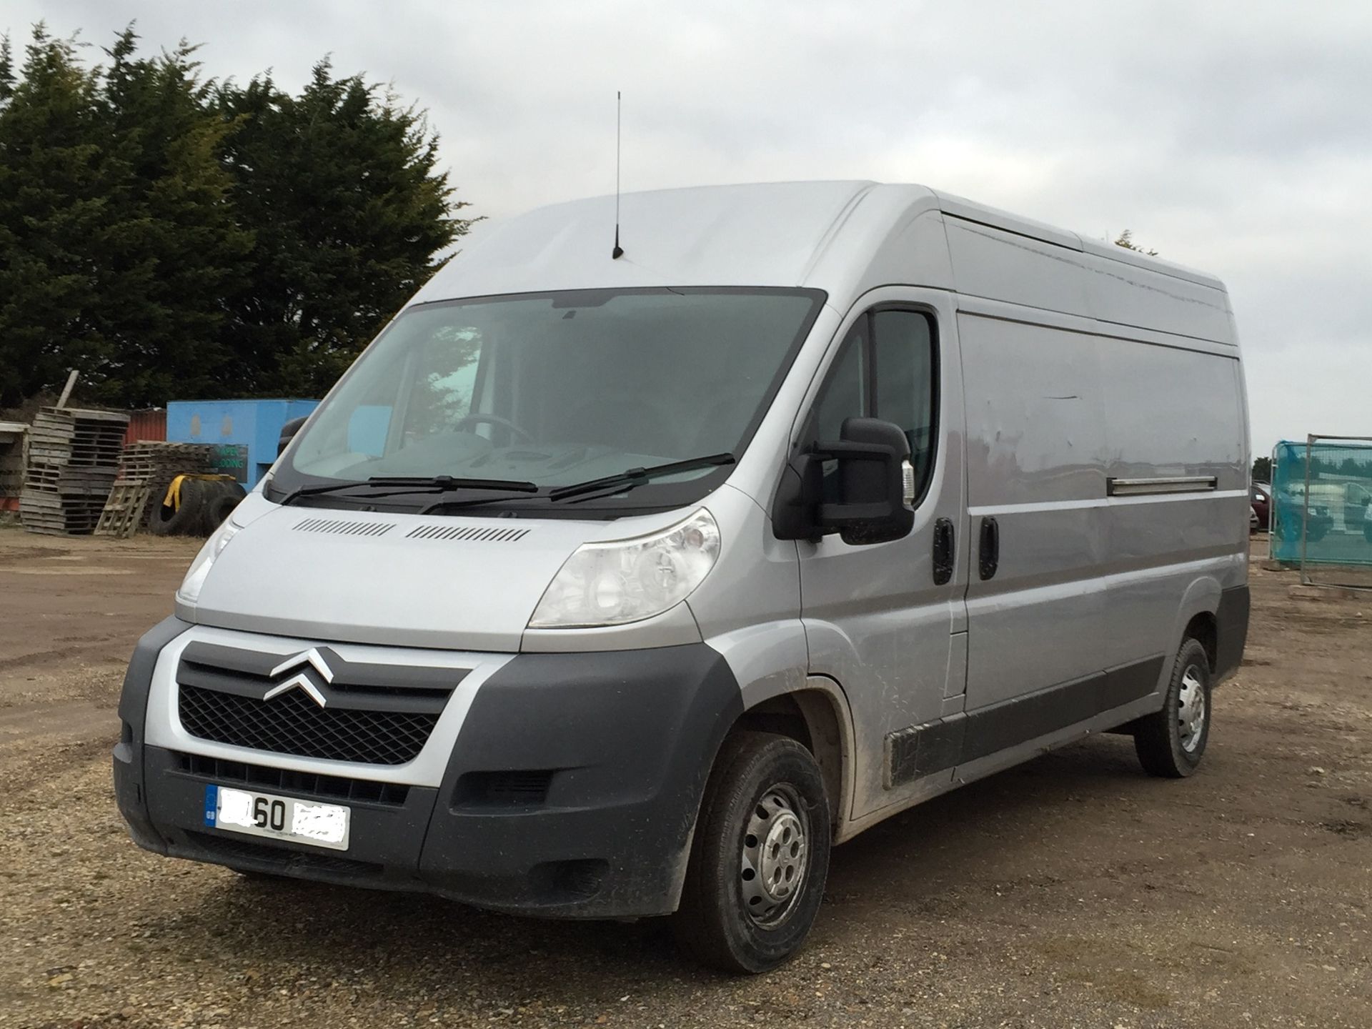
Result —
<path fill-rule="evenodd" d="M 772 531 L 779 539 L 838 532 L 845 543 L 885 543 L 915 524 L 914 473 L 904 431 L 879 418 L 848 418 L 834 443 L 818 443 L 788 466 L 777 493 Z M 823 462 L 837 461 L 838 497 L 823 497 Z"/>

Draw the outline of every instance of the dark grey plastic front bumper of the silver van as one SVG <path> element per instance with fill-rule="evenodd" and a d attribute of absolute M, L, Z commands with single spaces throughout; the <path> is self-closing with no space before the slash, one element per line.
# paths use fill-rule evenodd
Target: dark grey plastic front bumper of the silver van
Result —
<path fill-rule="evenodd" d="M 156 653 L 187 628 L 169 619 L 140 641 L 119 705 L 115 796 L 140 847 L 497 911 L 637 918 L 676 908 L 705 779 L 742 711 L 729 665 L 704 643 L 520 654 L 480 686 L 442 783 L 407 786 L 403 797 L 390 789 L 383 803 L 292 790 L 299 778 L 272 785 L 270 753 L 240 764 L 145 745 Z M 207 785 L 346 804 L 348 849 L 207 826 Z"/>

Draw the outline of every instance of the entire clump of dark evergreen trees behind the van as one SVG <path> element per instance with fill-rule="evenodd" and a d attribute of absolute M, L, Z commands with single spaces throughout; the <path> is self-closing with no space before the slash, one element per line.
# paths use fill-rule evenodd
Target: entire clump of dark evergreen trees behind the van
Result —
<path fill-rule="evenodd" d="M 291 96 L 137 45 L 0 40 L 0 406 L 321 394 L 466 230 L 436 137 L 327 60 Z"/>

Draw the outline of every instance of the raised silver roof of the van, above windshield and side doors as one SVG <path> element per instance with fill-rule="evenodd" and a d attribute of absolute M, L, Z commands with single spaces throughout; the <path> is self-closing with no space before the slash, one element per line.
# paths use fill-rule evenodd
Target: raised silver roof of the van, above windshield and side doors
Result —
<path fill-rule="evenodd" d="M 1004 296 L 982 292 L 992 276 L 986 261 L 996 261 L 985 250 L 993 239 L 996 254 L 1019 240 L 1044 268 L 1103 273 L 1088 274 L 1080 285 L 1055 287 L 1052 299 L 1026 294 L 1022 302 L 1030 306 L 1114 320 L 1104 310 L 1092 311 L 1093 305 L 1083 298 L 1104 288 L 1099 285 L 1104 279 L 1122 277 L 1131 280 L 1131 292 L 1161 288 L 1176 292 L 1179 305 L 1199 302 L 1213 306 L 1216 316 L 1228 310 L 1222 292 L 1211 294 L 1224 288 L 1213 276 L 922 185 L 764 182 L 624 193 L 619 202 L 624 255 L 619 259 L 611 257 L 615 203 L 613 196 L 597 196 L 480 222 L 416 300 L 552 289 L 778 285 L 820 288 L 847 303 L 867 288 L 892 283 Z M 1098 285 L 1088 285 L 1092 280 Z M 1066 300 L 1056 299 L 1065 295 Z M 1202 335 L 1213 338 L 1213 331 Z"/>

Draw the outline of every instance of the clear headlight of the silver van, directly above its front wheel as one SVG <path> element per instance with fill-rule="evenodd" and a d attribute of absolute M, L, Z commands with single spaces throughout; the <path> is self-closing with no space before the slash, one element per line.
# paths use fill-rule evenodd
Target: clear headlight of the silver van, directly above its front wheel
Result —
<path fill-rule="evenodd" d="M 528 627 L 622 626 L 661 615 L 700 586 L 718 557 L 719 525 L 704 508 L 650 536 L 583 543 L 553 576 Z"/>

